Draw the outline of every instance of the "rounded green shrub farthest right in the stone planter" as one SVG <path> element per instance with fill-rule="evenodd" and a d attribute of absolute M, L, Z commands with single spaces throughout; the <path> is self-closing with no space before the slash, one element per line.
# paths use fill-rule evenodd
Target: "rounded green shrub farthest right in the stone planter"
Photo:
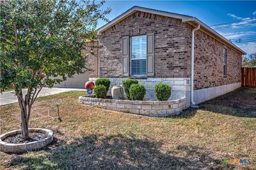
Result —
<path fill-rule="evenodd" d="M 163 82 L 159 82 L 154 87 L 154 91 L 156 93 L 156 98 L 159 101 L 168 100 L 172 94 L 172 87 L 169 84 L 164 84 Z"/>

